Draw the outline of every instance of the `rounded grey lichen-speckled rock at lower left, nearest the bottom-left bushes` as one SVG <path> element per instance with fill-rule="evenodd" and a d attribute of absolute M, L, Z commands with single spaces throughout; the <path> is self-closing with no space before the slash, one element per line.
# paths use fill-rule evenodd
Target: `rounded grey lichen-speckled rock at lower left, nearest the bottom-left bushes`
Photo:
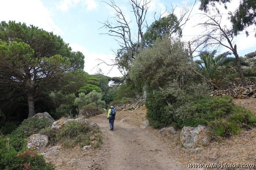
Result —
<path fill-rule="evenodd" d="M 30 135 L 27 139 L 27 148 L 28 149 L 35 149 L 35 150 L 43 150 L 46 148 L 48 144 L 48 136 L 41 135 L 41 134 L 33 134 Z"/>

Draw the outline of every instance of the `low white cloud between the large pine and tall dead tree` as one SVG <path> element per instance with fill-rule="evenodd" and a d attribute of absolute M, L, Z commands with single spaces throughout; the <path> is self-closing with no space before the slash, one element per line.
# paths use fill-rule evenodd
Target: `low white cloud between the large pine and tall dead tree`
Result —
<path fill-rule="evenodd" d="M 116 76 L 122 76 L 120 71 L 118 70 L 117 66 L 107 66 L 106 64 L 102 63 L 102 61 L 99 61 L 98 59 L 103 60 L 107 64 L 113 64 L 113 61 L 111 59 L 114 59 L 114 55 L 107 55 L 107 54 L 98 54 L 98 53 L 90 53 L 86 48 L 78 45 L 78 44 L 70 44 L 70 47 L 72 48 L 72 51 L 80 51 L 85 56 L 85 68 L 84 70 L 89 74 L 94 74 L 97 72 L 97 69 L 102 69 L 102 72 L 104 75 L 110 76 L 110 77 L 116 77 Z M 102 63 L 102 64 L 100 64 Z M 99 66 L 97 66 L 100 64 Z"/>

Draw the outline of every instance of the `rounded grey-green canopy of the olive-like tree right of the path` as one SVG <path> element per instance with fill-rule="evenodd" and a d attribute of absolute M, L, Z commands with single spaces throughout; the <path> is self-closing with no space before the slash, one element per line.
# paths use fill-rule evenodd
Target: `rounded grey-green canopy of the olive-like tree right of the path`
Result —
<path fill-rule="evenodd" d="M 173 79 L 182 79 L 188 72 L 189 57 L 180 41 L 164 37 L 152 48 L 139 53 L 131 68 L 131 77 L 140 86 L 150 90 L 163 87 Z"/>

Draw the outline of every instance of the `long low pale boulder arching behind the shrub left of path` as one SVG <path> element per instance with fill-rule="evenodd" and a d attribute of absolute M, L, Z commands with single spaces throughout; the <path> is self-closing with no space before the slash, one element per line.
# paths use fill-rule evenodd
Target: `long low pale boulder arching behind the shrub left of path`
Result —
<path fill-rule="evenodd" d="M 97 123 L 95 123 L 94 121 L 92 120 L 87 120 L 85 118 L 77 118 L 77 119 L 59 119 L 57 121 L 55 121 L 53 124 L 52 124 L 52 127 L 51 129 L 52 130 L 58 130 L 60 129 L 63 125 L 65 125 L 66 123 L 68 122 L 71 122 L 71 121 L 78 121 L 78 122 L 85 122 L 88 124 L 89 127 L 92 127 L 92 128 L 99 128 L 99 126 L 97 125 Z"/>

